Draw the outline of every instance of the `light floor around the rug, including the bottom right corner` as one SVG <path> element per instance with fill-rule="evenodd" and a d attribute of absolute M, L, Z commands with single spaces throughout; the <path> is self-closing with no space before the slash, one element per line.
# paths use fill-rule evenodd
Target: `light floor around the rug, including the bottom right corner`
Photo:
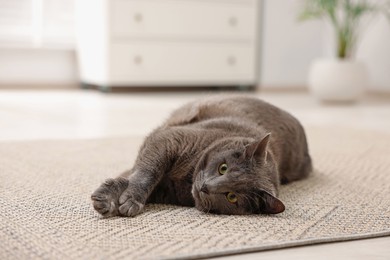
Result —
<path fill-rule="evenodd" d="M 216 92 L 118 93 L 0 90 L 0 141 L 145 135 L 187 101 Z M 253 93 L 294 114 L 304 126 L 390 133 L 390 97 L 322 105 L 305 93 Z M 372 138 L 375 138 L 373 135 Z M 389 158 L 390 159 L 390 158 Z M 305 246 L 226 259 L 390 259 L 390 237 Z"/>

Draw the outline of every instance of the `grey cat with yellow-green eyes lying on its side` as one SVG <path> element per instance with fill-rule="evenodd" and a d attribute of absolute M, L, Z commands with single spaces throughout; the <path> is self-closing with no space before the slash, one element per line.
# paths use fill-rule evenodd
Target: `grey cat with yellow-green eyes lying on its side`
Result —
<path fill-rule="evenodd" d="M 279 184 L 308 176 L 303 127 L 250 97 L 213 97 L 172 113 L 139 150 L 134 167 L 91 196 L 104 217 L 136 216 L 146 203 L 217 214 L 276 214 Z"/>

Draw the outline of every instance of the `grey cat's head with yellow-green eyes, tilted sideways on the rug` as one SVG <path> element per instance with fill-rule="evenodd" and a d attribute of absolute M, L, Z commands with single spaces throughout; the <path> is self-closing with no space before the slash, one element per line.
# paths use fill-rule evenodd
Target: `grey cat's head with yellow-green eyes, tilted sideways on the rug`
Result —
<path fill-rule="evenodd" d="M 197 209 L 218 214 L 276 214 L 277 166 L 260 140 L 226 139 L 210 147 L 196 167 L 192 194 Z"/>

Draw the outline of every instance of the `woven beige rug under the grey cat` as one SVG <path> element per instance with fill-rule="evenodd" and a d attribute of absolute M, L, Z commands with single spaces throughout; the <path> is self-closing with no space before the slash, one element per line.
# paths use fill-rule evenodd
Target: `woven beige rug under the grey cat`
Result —
<path fill-rule="evenodd" d="M 196 258 L 390 235 L 390 135 L 307 129 L 316 171 L 276 216 L 151 205 L 101 219 L 89 196 L 142 138 L 0 144 L 0 259 Z"/>

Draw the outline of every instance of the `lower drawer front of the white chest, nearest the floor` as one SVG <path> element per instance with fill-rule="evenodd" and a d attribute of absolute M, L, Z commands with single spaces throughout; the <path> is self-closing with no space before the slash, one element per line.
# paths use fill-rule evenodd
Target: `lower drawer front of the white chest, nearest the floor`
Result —
<path fill-rule="evenodd" d="M 123 82 L 254 81 L 251 45 L 112 44 L 110 76 Z"/>

